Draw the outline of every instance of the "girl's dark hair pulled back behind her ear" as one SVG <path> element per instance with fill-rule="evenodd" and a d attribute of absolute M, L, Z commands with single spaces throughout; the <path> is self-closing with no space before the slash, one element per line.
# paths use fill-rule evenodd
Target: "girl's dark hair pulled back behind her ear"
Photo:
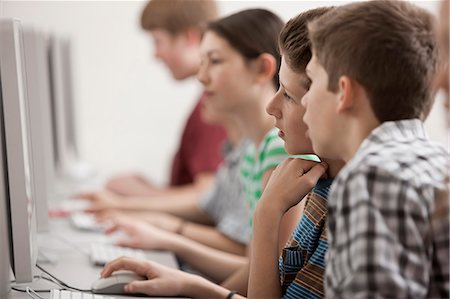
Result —
<path fill-rule="evenodd" d="M 284 22 L 265 9 L 248 9 L 209 23 L 212 31 L 226 39 L 246 59 L 253 60 L 263 53 L 271 54 L 277 62 L 273 84 L 278 88 L 281 57 L 277 40 Z"/>

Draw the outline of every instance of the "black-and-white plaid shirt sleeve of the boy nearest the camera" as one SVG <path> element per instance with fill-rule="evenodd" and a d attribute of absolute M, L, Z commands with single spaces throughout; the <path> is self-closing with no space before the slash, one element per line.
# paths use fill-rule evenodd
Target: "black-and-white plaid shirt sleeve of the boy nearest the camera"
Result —
<path fill-rule="evenodd" d="M 424 262 L 432 255 L 424 236 L 431 232 L 433 187 L 416 188 L 373 164 L 336 185 L 339 200 L 329 211 L 327 297 L 424 298 L 432 268 Z"/>

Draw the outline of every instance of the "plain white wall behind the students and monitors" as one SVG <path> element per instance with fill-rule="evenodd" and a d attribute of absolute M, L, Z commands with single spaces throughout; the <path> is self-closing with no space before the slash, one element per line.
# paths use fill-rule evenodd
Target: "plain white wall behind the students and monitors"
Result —
<path fill-rule="evenodd" d="M 187 0 L 188 1 L 188 0 Z M 222 15 L 264 7 L 284 20 L 300 11 L 348 1 L 219 1 Z M 436 1 L 415 1 L 433 13 Z M 165 183 L 186 117 L 201 86 L 175 82 L 153 58 L 139 27 L 144 1 L 6 1 L 0 16 L 16 17 L 73 44 L 77 137 L 84 160 L 102 173 L 138 171 Z M 427 126 L 448 147 L 442 104 Z"/>

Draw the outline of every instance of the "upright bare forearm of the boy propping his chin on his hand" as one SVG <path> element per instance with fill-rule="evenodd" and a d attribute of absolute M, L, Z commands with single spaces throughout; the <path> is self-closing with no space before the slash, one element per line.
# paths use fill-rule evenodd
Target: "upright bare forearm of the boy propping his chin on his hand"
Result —
<path fill-rule="evenodd" d="M 261 201 L 253 216 L 249 298 L 280 298 L 278 241 L 283 213 Z"/>

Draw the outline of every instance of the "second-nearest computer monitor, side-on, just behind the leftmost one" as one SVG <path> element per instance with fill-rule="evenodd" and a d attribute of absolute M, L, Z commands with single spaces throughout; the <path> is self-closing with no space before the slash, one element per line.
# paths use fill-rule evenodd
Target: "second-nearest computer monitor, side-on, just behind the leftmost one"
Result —
<path fill-rule="evenodd" d="M 54 157 L 50 106 L 48 42 L 44 33 L 23 26 L 28 107 L 30 116 L 31 156 L 37 230 L 48 230 L 48 200 L 53 195 Z"/>

